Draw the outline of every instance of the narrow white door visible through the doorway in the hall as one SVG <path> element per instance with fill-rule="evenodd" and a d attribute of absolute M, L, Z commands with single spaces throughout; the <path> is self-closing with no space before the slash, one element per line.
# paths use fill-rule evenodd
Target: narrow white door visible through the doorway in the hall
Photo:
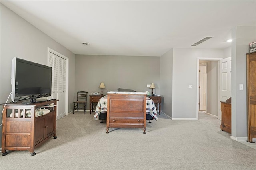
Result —
<path fill-rule="evenodd" d="M 199 110 L 200 111 L 206 111 L 206 70 L 207 65 L 206 63 L 203 63 L 200 65 L 199 71 L 200 71 L 200 85 L 199 85 L 199 91 L 200 91 L 200 101 L 199 101 Z"/>

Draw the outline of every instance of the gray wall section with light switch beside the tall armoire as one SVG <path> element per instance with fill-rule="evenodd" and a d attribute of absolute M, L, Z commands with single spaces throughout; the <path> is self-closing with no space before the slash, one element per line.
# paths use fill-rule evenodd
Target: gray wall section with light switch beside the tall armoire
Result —
<path fill-rule="evenodd" d="M 236 140 L 247 140 L 246 109 L 246 53 L 249 43 L 256 40 L 256 27 L 237 26 L 232 29 L 232 129 L 231 136 Z M 239 90 L 239 84 L 244 90 Z"/>

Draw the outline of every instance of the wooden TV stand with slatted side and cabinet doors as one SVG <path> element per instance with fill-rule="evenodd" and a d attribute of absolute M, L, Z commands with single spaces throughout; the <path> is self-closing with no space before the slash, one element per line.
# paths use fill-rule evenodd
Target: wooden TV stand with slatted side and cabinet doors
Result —
<path fill-rule="evenodd" d="M 2 128 L 2 155 L 6 150 L 29 150 L 31 156 L 36 155 L 34 149 L 49 138 L 56 139 L 56 106 L 58 100 L 45 101 L 24 105 L 22 103 L 7 103 L 3 110 Z M 36 108 L 49 107 L 50 113 L 35 117 Z M 1 104 L 4 106 L 4 104 Z M 45 107 L 45 109 L 48 109 Z M 31 117 L 27 117 L 26 111 L 31 110 Z M 10 117 L 11 113 L 18 115 Z"/>

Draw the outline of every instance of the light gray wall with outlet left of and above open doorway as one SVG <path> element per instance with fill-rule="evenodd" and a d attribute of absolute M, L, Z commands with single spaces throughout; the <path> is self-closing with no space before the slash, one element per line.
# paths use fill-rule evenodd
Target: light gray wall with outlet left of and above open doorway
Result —
<path fill-rule="evenodd" d="M 197 58 L 223 58 L 222 49 L 174 49 L 172 118 L 196 119 Z M 193 85 L 188 89 L 188 85 Z"/>

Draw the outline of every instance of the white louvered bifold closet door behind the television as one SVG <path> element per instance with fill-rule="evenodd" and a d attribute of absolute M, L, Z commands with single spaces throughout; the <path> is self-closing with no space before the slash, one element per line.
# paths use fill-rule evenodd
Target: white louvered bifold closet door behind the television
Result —
<path fill-rule="evenodd" d="M 65 116 L 66 111 L 66 60 L 49 52 L 48 65 L 52 67 L 52 99 L 58 99 L 57 119 Z"/>

